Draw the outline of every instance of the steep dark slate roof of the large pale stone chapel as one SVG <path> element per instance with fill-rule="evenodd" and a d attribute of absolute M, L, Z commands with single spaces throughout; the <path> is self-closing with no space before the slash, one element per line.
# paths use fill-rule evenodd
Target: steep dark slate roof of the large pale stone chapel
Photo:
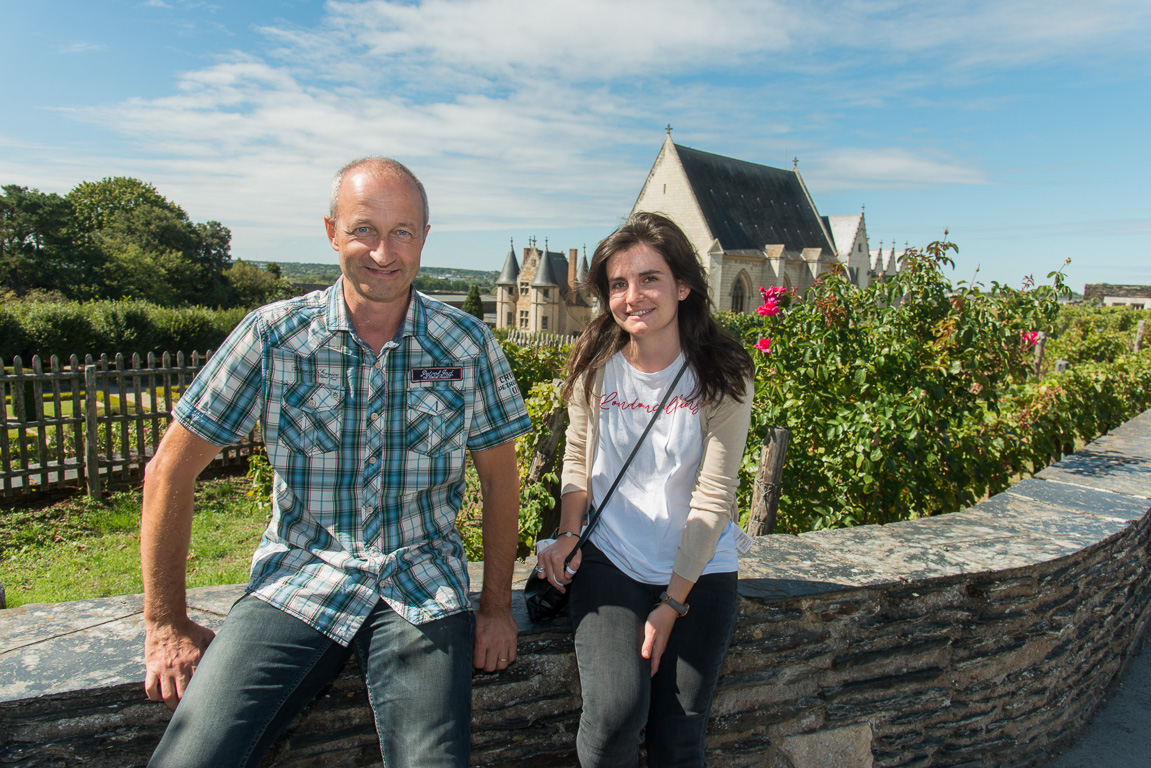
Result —
<path fill-rule="evenodd" d="M 834 246 L 795 170 L 780 170 L 676 145 L 687 182 L 725 251 Z"/>

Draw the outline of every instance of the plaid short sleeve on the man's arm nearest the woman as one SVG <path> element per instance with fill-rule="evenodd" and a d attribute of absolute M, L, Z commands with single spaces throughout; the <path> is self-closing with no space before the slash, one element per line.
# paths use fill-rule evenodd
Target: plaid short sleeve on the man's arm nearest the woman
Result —
<path fill-rule="evenodd" d="M 519 385 L 500 342 L 485 334 L 485 355 L 475 366 L 475 408 L 468 450 L 486 450 L 532 431 Z"/>

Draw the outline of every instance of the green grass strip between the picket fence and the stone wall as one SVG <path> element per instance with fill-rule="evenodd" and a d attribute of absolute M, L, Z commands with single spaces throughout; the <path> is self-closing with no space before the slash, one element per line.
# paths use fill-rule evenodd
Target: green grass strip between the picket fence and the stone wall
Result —
<path fill-rule="evenodd" d="M 251 480 L 197 484 L 188 586 L 247 581 L 267 516 L 246 496 Z M 102 502 L 76 496 L 49 507 L 0 508 L 0 584 L 8 606 L 64 602 L 143 592 L 139 572 L 140 494 Z"/>

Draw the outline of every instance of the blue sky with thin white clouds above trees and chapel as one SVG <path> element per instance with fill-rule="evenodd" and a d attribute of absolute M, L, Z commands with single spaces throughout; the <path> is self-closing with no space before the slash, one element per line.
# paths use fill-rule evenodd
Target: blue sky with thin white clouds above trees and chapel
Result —
<path fill-rule="evenodd" d="M 788 168 L 953 277 L 1151 284 L 1145 0 L 0 0 L 0 183 L 128 175 L 233 256 L 328 261 L 331 173 L 428 188 L 424 264 L 587 248 L 664 138 Z M 976 272 L 977 271 L 977 272 Z"/>

